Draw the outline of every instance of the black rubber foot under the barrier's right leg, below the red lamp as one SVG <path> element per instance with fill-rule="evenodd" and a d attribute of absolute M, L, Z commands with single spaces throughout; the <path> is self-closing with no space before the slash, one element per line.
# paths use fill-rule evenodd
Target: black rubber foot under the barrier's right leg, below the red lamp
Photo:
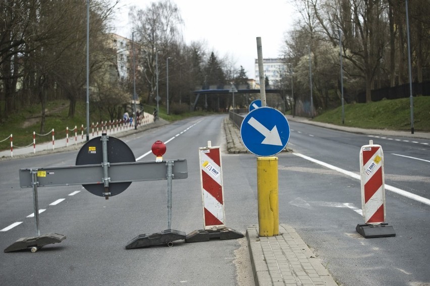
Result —
<path fill-rule="evenodd" d="M 152 235 L 139 235 L 129 241 L 126 249 L 148 247 L 153 245 L 167 244 L 169 247 L 173 246 L 173 242 L 177 240 L 184 240 L 186 238 L 185 232 L 166 230 Z"/>

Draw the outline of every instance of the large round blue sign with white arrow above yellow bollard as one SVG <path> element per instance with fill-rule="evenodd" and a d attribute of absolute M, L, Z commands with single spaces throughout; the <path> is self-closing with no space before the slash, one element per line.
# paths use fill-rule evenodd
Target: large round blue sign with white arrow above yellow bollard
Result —
<path fill-rule="evenodd" d="M 283 113 L 272 107 L 253 109 L 240 126 L 243 145 L 257 156 L 273 156 L 287 146 L 290 125 Z"/>

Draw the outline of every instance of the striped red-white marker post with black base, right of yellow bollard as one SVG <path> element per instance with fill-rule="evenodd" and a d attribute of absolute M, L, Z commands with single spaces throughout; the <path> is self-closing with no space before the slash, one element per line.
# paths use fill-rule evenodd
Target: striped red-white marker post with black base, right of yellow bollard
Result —
<path fill-rule="evenodd" d="M 364 224 L 357 225 L 357 232 L 365 238 L 396 236 L 385 222 L 384 153 L 373 140 L 360 149 L 360 176 Z"/>

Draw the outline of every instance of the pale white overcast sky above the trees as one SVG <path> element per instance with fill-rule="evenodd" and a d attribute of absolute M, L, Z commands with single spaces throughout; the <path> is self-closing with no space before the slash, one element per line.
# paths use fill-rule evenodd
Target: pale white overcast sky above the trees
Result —
<path fill-rule="evenodd" d="M 184 20 L 186 43 L 205 41 L 218 58 L 225 55 L 234 66 L 243 66 L 248 78 L 254 78 L 257 59 L 256 37 L 261 37 L 263 58 L 281 56 L 284 33 L 292 28 L 294 9 L 287 0 L 171 0 Z M 129 7 L 145 9 L 156 0 L 121 0 L 116 33 L 131 34 Z"/>

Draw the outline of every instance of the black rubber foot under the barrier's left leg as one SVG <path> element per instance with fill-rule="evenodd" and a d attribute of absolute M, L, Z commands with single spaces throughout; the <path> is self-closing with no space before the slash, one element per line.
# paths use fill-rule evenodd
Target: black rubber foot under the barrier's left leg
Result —
<path fill-rule="evenodd" d="M 5 249 L 5 252 L 24 250 L 31 248 L 31 252 L 36 252 L 47 244 L 59 243 L 66 239 L 66 236 L 59 234 L 45 234 L 37 237 L 20 238 Z"/>

